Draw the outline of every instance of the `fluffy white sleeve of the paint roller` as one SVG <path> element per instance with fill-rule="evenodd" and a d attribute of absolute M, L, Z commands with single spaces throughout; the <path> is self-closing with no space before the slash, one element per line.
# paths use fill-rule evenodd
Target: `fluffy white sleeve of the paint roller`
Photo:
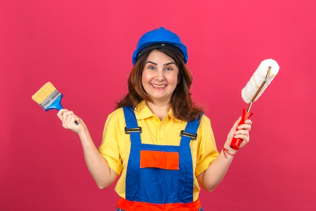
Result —
<path fill-rule="evenodd" d="M 261 94 L 267 89 L 268 85 L 279 72 L 280 67 L 275 60 L 266 59 L 262 61 L 256 69 L 256 71 L 251 76 L 250 80 L 247 82 L 246 86 L 241 90 L 241 97 L 246 103 L 251 102 L 255 93 L 259 90 L 260 86 L 262 85 L 262 82 L 264 82 L 268 73 L 269 66 L 271 66 L 271 71 L 268 76 L 268 79 L 264 87 L 261 89 L 257 97 L 254 99 L 254 101 L 256 101 L 261 96 Z"/>

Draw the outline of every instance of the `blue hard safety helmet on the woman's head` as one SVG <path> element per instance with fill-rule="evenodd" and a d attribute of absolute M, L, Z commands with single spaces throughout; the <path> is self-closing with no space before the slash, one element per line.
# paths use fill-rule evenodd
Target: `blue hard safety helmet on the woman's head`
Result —
<path fill-rule="evenodd" d="M 148 31 L 140 37 L 133 53 L 133 65 L 144 53 L 156 48 L 170 49 L 179 54 L 185 64 L 188 61 L 187 47 L 182 43 L 180 37 L 172 31 L 160 27 Z"/>

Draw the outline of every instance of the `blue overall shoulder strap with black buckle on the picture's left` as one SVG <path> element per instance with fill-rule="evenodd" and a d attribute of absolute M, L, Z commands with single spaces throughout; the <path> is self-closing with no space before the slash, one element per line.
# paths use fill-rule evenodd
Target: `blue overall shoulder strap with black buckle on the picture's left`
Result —
<path fill-rule="evenodd" d="M 141 127 L 137 124 L 137 119 L 132 106 L 123 107 L 125 116 L 125 134 L 130 134 L 132 144 L 140 144 Z"/>

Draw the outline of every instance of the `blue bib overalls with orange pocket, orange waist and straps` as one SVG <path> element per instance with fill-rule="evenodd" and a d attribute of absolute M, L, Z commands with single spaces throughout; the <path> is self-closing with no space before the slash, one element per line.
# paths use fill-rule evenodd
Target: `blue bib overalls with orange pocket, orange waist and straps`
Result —
<path fill-rule="evenodd" d="M 181 131 L 180 146 L 142 144 L 132 107 L 123 107 L 131 150 L 126 173 L 126 199 L 117 210 L 202 210 L 193 202 L 191 139 L 196 139 L 199 119 Z"/>

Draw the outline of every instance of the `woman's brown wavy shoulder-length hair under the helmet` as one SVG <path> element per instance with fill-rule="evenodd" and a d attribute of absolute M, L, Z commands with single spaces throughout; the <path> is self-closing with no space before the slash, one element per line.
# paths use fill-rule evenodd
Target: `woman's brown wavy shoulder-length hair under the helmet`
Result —
<path fill-rule="evenodd" d="M 192 85 L 192 74 L 182 61 L 181 57 L 166 48 L 155 49 L 173 59 L 179 68 L 178 85 L 171 97 L 171 108 L 176 118 L 184 121 L 194 120 L 202 115 L 203 109 L 195 106 L 191 99 L 190 87 Z M 151 52 L 151 51 L 150 51 Z M 145 92 L 141 78 L 145 63 L 150 52 L 146 52 L 135 64 L 128 77 L 128 94 L 119 102 L 117 108 L 123 106 L 133 106 L 135 108 L 142 100 L 152 102 L 148 94 Z"/>

